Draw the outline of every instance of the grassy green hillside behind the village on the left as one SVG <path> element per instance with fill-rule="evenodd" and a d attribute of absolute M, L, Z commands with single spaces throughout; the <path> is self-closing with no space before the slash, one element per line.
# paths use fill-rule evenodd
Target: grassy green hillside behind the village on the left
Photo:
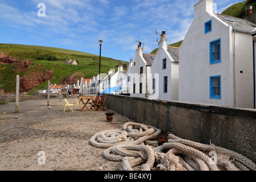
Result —
<path fill-rule="evenodd" d="M 74 74 L 75 77 L 80 79 L 82 75 L 85 78 L 92 78 L 97 76 L 99 72 L 99 56 L 85 52 L 41 46 L 0 44 L 0 53 L 6 53 L 8 56 L 23 62 L 27 60 L 33 61 L 24 72 L 15 64 L 0 64 L 0 89 L 5 89 L 5 92 L 15 92 L 14 80 L 17 74 L 20 77 L 31 78 L 36 72 L 53 71 L 50 82 L 59 84 L 61 80 L 65 80 L 74 73 L 76 73 Z M 70 59 L 77 60 L 78 65 L 64 63 Z M 109 69 L 117 69 L 120 63 L 123 63 L 123 67 L 126 69 L 127 62 L 102 57 L 101 72 L 108 73 Z M 65 83 L 62 82 L 62 84 Z M 39 84 L 35 89 L 45 88 L 47 88 L 47 81 Z"/>

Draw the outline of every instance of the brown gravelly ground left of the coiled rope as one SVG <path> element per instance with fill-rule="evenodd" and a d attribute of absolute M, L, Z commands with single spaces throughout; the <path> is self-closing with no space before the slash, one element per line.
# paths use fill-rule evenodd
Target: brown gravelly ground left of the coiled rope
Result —
<path fill-rule="evenodd" d="M 75 98 L 68 101 L 76 103 Z M 121 129 L 132 122 L 129 118 L 115 113 L 111 124 L 105 115 L 111 110 L 72 113 L 67 108 L 63 113 L 65 101 L 59 98 L 51 98 L 50 106 L 47 109 L 47 100 L 26 101 L 19 105 L 20 113 L 13 113 L 15 104 L 0 106 L 1 171 L 118 170 L 119 162 L 104 159 L 104 149 L 89 140 L 100 131 Z M 45 164 L 39 160 L 44 156 Z"/>

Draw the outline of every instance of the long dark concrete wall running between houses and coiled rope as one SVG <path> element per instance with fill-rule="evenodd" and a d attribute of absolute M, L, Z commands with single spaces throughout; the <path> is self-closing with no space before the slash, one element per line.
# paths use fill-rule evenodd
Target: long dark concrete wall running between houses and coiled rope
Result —
<path fill-rule="evenodd" d="M 178 137 L 238 152 L 256 163 L 256 110 L 107 94 L 105 107 Z"/>

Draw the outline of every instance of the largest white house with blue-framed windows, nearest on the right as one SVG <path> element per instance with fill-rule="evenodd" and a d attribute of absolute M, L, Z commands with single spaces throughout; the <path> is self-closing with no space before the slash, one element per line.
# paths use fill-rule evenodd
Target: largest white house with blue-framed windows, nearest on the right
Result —
<path fill-rule="evenodd" d="M 179 48 L 179 101 L 253 108 L 255 26 L 215 14 L 213 0 L 197 2 Z"/>

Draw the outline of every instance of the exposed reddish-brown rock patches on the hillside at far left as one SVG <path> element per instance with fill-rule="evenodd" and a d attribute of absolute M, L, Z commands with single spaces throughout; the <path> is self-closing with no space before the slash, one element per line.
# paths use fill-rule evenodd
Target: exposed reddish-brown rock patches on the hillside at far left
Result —
<path fill-rule="evenodd" d="M 31 60 L 19 61 L 16 58 L 7 56 L 5 53 L 0 53 L 0 64 L 9 64 L 11 66 L 16 65 L 18 68 L 17 72 L 25 72 L 29 69 L 31 63 L 33 63 Z M 34 71 L 29 77 L 22 76 L 20 82 L 21 92 L 30 92 L 37 85 L 49 80 L 51 75 L 53 75 L 53 71 L 47 70 L 46 72 Z"/>

